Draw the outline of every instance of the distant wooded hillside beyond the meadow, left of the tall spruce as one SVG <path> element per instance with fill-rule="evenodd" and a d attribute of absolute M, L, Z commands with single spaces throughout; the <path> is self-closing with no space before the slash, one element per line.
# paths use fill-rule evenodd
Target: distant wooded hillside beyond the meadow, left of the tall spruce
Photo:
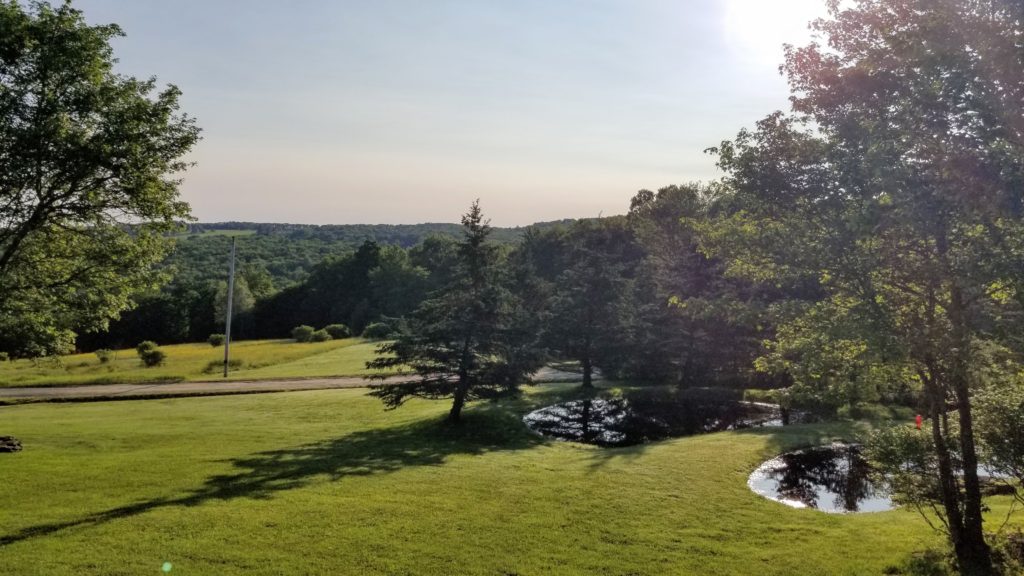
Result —
<path fill-rule="evenodd" d="M 563 225 L 571 220 L 540 222 L 531 230 Z M 227 255 L 231 237 L 238 243 L 238 282 L 236 288 L 236 336 L 242 338 L 284 337 L 298 324 L 326 325 L 345 322 L 361 330 L 369 320 L 381 316 L 400 316 L 408 310 L 410 298 L 422 298 L 416 286 L 404 291 L 381 288 L 386 271 L 395 271 L 396 254 L 409 252 L 419 258 L 417 274 L 430 275 L 432 259 L 439 256 L 422 254 L 450 244 L 457 238 L 459 224 L 344 224 L 311 225 L 256 222 L 218 222 L 187 224 L 187 234 L 175 239 L 174 250 L 161 266 L 169 276 L 159 291 L 136 295 L 133 310 L 122 313 L 120 320 L 104 331 L 79 330 L 77 347 L 92 351 L 102 347 L 133 346 L 138 341 L 153 339 L 161 343 L 205 340 L 209 334 L 223 330 L 223 308 L 226 301 Z M 494 238 L 502 244 L 518 242 L 525 228 L 497 228 Z M 234 234 L 232 234 L 234 233 Z M 378 258 L 377 254 L 380 253 Z M 355 258 L 370 268 L 357 272 L 346 269 L 345 262 Z M 425 258 L 425 259 L 424 259 Z M 385 272 L 373 281 L 373 287 L 358 288 L 369 283 L 367 274 L 381 265 Z M 415 268 L 414 266 L 414 268 Z M 399 266 L 400 268 L 400 266 Z M 360 278 L 352 280 L 352 278 Z M 344 275 L 339 286 L 351 291 L 354 303 L 333 301 L 327 279 Z M 428 282 L 425 286 L 429 288 Z M 339 288 L 340 290 L 341 288 Z M 373 292 L 382 301 L 377 302 Z M 345 299 L 348 296 L 338 296 Z M 397 302 L 397 303 L 394 303 Z M 281 310 L 295 306 L 295 314 Z M 351 308 L 351 311 L 349 311 Z M 354 311 L 354 312 L 352 312 Z M 328 320 L 337 316 L 337 320 Z M 369 320 L 368 320 L 369 319 Z M 12 347 L 11 353 L 17 354 Z"/>

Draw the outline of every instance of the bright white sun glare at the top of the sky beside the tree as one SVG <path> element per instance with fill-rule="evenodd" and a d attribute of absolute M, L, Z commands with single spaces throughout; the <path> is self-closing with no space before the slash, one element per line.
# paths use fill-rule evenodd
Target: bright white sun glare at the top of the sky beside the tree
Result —
<path fill-rule="evenodd" d="M 812 19 L 825 15 L 823 0 L 726 0 L 726 40 L 743 59 L 782 61 L 782 44 L 806 43 Z"/>

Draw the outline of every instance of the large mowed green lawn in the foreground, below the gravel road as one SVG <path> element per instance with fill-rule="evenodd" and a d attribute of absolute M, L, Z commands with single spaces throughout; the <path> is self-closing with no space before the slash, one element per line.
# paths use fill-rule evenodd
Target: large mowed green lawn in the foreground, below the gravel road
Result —
<path fill-rule="evenodd" d="M 600 449 L 543 440 L 566 384 L 385 411 L 365 389 L 0 408 L 0 574 L 882 574 L 915 513 L 833 516 L 748 475 L 824 424 Z M 996 502 L 998 509 L 1004 505 Z"/>

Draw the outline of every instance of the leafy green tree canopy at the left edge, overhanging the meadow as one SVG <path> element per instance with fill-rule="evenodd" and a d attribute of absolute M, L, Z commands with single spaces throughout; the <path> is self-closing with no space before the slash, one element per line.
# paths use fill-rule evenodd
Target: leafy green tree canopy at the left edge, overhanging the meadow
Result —
<path fill-rule="evenodd" d="M 179 91 L 116 74 L 115 25 L 69 3 L 0 2 L 0 351 L 66 352 L 164 280 L 188 217 Z"/>

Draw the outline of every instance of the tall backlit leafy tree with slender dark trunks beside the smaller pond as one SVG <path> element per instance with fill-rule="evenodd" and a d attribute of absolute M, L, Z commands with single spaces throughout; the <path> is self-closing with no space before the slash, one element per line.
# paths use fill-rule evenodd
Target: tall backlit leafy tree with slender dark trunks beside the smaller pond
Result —
<path fill-rule="evenodd" d="M 824 292 L 788 306 L 778 349 L 811 331 L 849 370 L 914 375 L 958 565 L 987 574 L 973 374 L 981 342 L 1021 349 L 1004 336 L 1024 288 L 1020 4 L 834 1 L 830 14 L 814 25 L 827 47 L 786 51 L 793 113 L 715 150 L 730 206 L 702 241 L 731 274 Z"/>

